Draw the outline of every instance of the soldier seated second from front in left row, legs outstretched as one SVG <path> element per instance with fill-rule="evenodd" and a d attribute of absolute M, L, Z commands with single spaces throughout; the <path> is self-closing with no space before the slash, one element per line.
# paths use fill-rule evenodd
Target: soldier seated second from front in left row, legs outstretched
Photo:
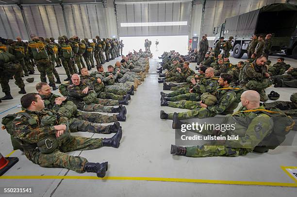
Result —
<path fill-rule="evenodd" d="M 102 126 L 94 123 L 108 123 L 114 122 L 114 116 L 106 116 L 99 113 L 90 113 L 84 111 L 78 111 L 77 106 L 67 100 L 67 97 L 61 97 L 57 94 L 53 94 L 50 91 L 49 85 L 43 82 L 36 84 L 36 90 L 44 101 L 46 108 L 56 111 L 57 113 L 63 114 L 69 119 L 72 125 L 71 132 L 75 131 L 86 131 L 91 133 L 103 133 L 110 134 L 116 132 L 119 128 L 119 122 L 115 122 L 113 125 Z M 118 108 L 110 108 L 111 113 L 126 111 L 124 106 Z"/>

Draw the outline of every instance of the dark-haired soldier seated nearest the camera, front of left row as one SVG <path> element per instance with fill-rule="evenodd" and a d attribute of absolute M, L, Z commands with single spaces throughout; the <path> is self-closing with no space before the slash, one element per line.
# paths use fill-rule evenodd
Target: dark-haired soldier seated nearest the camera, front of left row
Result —
<path fill-rule="evenodd" d="M 90 163 L 84 157 L 74 157 L 65 152 L 93 150 L 102 146 L 118 148 L 122 137 L 121 129 L 112 138 L 71 136 L 68 133 L 67 118 L 44 108 L 43 100 L 38 94 L 24 95 L 21 105 L 25 108 L 26 115 L 16 116 L 12 122 L 12 135 L 20 142 L 30 161 L 41 167 L 64 167 L 79 173 L 87 171 L 97 173 L 98 177 L 105 176 L 107 162 Z M 51 142 L 50 148 L 48 141 Z"/>

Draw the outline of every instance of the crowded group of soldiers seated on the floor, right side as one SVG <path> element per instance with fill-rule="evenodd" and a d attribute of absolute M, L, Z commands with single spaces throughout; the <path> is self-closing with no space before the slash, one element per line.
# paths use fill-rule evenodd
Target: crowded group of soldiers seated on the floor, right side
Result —
<path fill-rule="evenodd" d="M 161 56 L 164 58 L 163 61 L 170 55 L 168 54 L 165 53 Z M 213 141 L 193 147 L 172 145 L 171 154 L 191 157 L 238 156 L 252 151 L 267 152 L 269 149 L 279 146 L 284 141 L 285 135 L 293 129 L 297 122 L 297 92 L 291 95 L 291 101 L 261 104 L 262 92 L 258 89 L 253 90 L 253 85 L 259 85 L 259 79 L 256 80 L 255 77 L 260 78 L 260 74 L 267 78 L 270 78 L 270 75 L 282 76 L 281 74 L 290 67 L 283 68 L 285 66 L 283 61 L 283 59 L 278 59 L 276 64 L 267 66 L 266 58 L 261 56 L 250 62 L 240 61 L 235 67 L 228 59 L 218 59 L 217 62 L 213 62 L 215 65 L 212 66 L 202 63 L 199 73 L 192 74 L 193 71 L 188 68 L 188 62 L 184 62 L 183 68 L 181 68 L 176 60 L 172 60 L 171 66 L 177 72 L 172 74 L 168 70 L 165 73 L 166 78 L 159 79 L 160 82 L 163 82 L 163 90 L 172 91 L 170 93 L 161 92 L 161 106 L 189 110 L 180 113 L 165 113 L 164 110 L 161 110 L 160 118 L 173 120 L 173 128 L 181 129 L 181 124 L 184 122 L 180 120 L 183 119 L 204 119 L 224 115 L 226 117 L 223 123 L 228 121 L 239 123 L 234 131 L 226 133 L 216 130 L 193 132 L 212 136 L 237 134 L 239 140 L 226 140 L 223 143 L 222 141 Z M 230 67 L 231 69 L 229 69 Z M 258 69 L 263 73 L 260 73 Z M 162 71 L 163 68 L 158 70 Z M 288 74 L 283 75 L 292 76 L 292 70 L 294 69 L 289 69 Z M 167 77 L 169 75 L 171 76 Z M 161 73 L 160 76 L 162 76 Z M 233 77 L 238 78 L 234 79 Z M 171 83 L 166 83 L 167 79 Z M 261 82 L 263 85 L 264 81 Z M 234 113 L 239 102 L 242 106 Z M 280 128 L 280 125 L 283 127 Z"/>

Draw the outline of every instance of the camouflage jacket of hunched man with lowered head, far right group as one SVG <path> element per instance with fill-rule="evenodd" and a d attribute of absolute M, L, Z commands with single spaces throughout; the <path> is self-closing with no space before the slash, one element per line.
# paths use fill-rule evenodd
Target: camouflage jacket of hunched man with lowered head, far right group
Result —
<path fill-rule="evenodd" d="M 249 80 L 261 81 L 265 78 L 266 69 L 267 68 L 265 65 L 258 66 L 256 61 L 246 64 L 242 69 L 242 81 L 244 83 L 248 82 Z"/>

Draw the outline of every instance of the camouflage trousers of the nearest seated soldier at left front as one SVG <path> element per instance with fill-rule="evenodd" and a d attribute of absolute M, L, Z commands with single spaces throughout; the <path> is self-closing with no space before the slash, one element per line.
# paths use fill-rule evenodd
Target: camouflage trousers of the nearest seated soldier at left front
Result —
<path fill-rule="evenodd" d="M 82 173 L 87 159 L 65 152 L 93 150 L 100 147 L 102 147 L 102 138 L 68 136 L 56 150 L 49 154 L 43 154 L 38 149 L 34 149 L 26 151 L 25 155 L 30 161 L 41 167 L 63 167 Z"/>

